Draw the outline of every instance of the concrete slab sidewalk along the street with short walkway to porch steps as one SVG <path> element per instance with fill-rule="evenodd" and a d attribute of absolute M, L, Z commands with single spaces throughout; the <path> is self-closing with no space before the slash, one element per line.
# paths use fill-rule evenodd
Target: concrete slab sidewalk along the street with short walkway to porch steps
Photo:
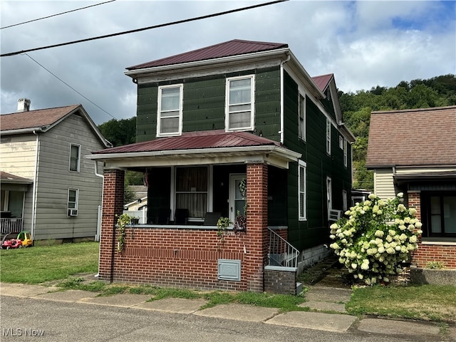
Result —
<path fill-rule="evenodd" d="M 312 286 L 310 291 L 306 293 L 308 301 L 301 304 L 301 306 L 309 307 L 313 311 L 289 311 L 284 314 L 280 314 L 278 309 L 244 304 L 223 304 L 200 310 L 199 308 L 206 304 L 204 299 L 167 298 L 147 301 L 152 296 L 140 294 L 97 296 L 98 294 L 90 291 L 56 290 L 58 289 L 40 285 L 0 283 L 1 296 L 15 296 L 22 299 L 64 301 L 75 304 L 117 306 L 134 310 L 192 314 L 338 333 L 350 330 L 351 332 L 358 331 L 359 333 L 384 335 L 384 338 L 388 338 L 387 336 L 413 338 L 415 336 L 417 341 L 456 342 L 455 326 L 450 326 L 450 328 L 442 332 L 437 323 L 396 321 L 380 318 L 358 319 L 356 316 L 344 314 L 346 311 L 343 303 L 350 299 L 350 291 L 323 286 Z"/>

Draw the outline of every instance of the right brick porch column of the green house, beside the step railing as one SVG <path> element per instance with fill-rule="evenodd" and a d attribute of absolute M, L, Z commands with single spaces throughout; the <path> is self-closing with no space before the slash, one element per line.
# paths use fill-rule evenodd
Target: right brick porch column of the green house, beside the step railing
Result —
<path fill-rule="evenodd" d="M 262 292 L 264 265 L 268 252 L 268 166 L 247 164 L 247 236 L 251 239 L 246 255 L 247 290 Z"/>

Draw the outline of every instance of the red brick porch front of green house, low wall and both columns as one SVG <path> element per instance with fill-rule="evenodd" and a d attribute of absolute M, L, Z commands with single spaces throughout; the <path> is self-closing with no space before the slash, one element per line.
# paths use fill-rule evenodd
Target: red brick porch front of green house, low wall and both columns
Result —
<path fill-rule="evenodd" d="M 123 172 L 105 172 L 100 279 L 195 289 L 263 291 L 267 258 L 267 166 L 247 165 L 247 232 L 219 243 L 216 229 L 130 227 L 125 249 L 116 251 L 114 215 L 123 205 Z M 122 187 L 120 187 L 122 185 Z M 123 201 L 121 201 L 123 202 Z M 241 281 L 217 279 L 218 259 L 241 260 Z"/>

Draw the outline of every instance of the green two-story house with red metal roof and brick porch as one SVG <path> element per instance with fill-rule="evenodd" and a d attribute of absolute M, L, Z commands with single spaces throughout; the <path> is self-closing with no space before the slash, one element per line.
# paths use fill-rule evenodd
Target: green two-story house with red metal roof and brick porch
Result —
<path fill-rule="evenodd" d="M 351 195 L 355 138 L 333 75 L 311 78 L 287 44 L 240 40 L 125 74 L 138 86 L 137 142 L 90 157 L 105 162 L 100 277 L 296 293 Z M 123 170 L 145 175 L 147 224 L 112 253 Z"/>

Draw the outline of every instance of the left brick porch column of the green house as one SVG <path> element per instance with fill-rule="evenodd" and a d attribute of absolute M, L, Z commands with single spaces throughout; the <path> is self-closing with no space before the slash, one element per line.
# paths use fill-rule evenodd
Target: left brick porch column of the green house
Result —
<path fill-rule="evenodd" d="M 123 187 L 125 172 L 106 169 L 103 182 L 103 206 L 101 214 L 99 278 L 113 281 L 113 262 L 116 251 L 115 224 L 123 212 Z"/>

